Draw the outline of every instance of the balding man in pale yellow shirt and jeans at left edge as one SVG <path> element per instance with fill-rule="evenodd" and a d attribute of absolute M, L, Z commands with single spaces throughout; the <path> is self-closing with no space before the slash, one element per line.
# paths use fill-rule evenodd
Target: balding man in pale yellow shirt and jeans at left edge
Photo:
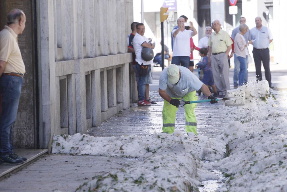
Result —
<path fill-rule="evenodd" d="M 24 12 L 13 9 L 7 16 L 7 26 L 0 31 L 0 165 L 18 165 L 27 161 L 13 152 L 11 144 L 25 73 L 18 45 L 18 34 L 24 31 L 25 23 Z"/>

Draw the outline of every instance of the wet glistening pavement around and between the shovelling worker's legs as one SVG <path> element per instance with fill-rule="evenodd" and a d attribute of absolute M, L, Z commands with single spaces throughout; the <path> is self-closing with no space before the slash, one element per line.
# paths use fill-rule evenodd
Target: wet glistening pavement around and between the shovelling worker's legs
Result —
<path fill-rule="evenodd" d="M 122 110 L 108 121 L 104 121 L 99 127 L 88 130 L 89 135 L 95 137 L 111 137 L 122 135 L 150 135 L 162 131 L 162 107 L 163 99 L 158 92 L 150 92 L 150 98 L 157 104 L 151 106 L 140 106 L 132 103 L 127 110 Z M 206 99 L 199 96 L 199 99 Z M 197 118 L 197 133 L 199 135 L 216 135 L 227 125 L 231 119 L 222 121 L 221 113 L 224 112 L 224 102 L 218 104 L 201 103 L 195 108 Z M 216 112 L 216 113 L 215 113 Z M 218 116 L 218 117 L 217 117 Z M 185 112 L 184 107 L 177 111 L 175 129 L 185 133 Z"/>

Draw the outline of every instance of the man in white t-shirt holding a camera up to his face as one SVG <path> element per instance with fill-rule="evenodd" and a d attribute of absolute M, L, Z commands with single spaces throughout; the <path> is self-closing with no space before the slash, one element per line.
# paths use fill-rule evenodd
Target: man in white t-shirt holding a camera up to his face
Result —
<path fill-rule="evenodd" d="M 180 17 L 177 20 L 178 28 L 172 30 L 173 53 L 171 63 L 189 67 L 190 60 L 190 38 L 197 34 L 192 22 L 189 22 L 189 30 L 185 29 L 185 20 Z"/>

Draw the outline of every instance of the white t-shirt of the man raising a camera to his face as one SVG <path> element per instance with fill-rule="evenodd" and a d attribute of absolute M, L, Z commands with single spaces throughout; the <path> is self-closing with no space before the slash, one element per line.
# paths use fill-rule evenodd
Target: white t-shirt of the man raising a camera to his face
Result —
<path fill-rule="evenodd" d="M 172 30 L 172 38 L 173 38 L 173 49 L 172 49 L 172 57 L 175 56 L 188 56 L 190 57 L 190 38 L 194 35 L 192 30 L 184 30 L 179 31 L 175 38 L 173 37 L 173 33 L 177 29 Z"/>

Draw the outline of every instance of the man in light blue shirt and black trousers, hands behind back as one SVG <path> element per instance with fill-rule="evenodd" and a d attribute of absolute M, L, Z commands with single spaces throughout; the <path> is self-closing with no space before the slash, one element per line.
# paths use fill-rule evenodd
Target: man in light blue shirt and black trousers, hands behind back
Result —
<path fill-rule="evenodd" d="M 253 58 L 256 70 L 256 79 L 262 81 L 261 73 L 261 61 L 265 71 L 265 79 L 268 81 L 269 87 L 274 88 L 271 83 L 270 72 L 270 55 L 269 44 L 273 40 L 273 36 L 268 27 L 262 26 L 262 20 L 260 17 L 255 18 L 256 27 L 250 30 L 251 38 L 253 39 Z"/>

